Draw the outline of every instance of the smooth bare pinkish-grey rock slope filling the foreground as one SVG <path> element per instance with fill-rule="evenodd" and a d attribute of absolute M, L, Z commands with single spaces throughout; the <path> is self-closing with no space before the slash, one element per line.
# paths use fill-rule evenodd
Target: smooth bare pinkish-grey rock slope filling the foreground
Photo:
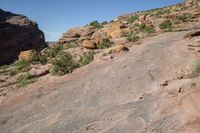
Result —
<path fill-rule="evenodd" d="M 187 32 L 146 38 L 113 60 L 33 84 L 1 105 L 0 131 L 198 132 L 200 82 L 184 77 L 196 56 Z"/>

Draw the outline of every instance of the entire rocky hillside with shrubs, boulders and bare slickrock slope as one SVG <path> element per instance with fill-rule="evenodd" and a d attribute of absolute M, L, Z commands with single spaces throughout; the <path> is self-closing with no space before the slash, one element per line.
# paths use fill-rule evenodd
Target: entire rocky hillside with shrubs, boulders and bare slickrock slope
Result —
<path fill-rule="evenodd" d="M 199 0 L 71 29 L 1 67 L 0 131 L 198 133 L 199 44 Z"/>

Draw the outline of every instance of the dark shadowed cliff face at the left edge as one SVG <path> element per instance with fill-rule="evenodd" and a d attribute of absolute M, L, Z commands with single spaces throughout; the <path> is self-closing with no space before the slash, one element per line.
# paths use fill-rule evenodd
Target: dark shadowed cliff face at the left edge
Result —
<path fill-rule="evenodd" d="M 37 23 L 0 9 L 0 65 L 16 60 L 21 51 L 44 47 L 44 33 Z"/>

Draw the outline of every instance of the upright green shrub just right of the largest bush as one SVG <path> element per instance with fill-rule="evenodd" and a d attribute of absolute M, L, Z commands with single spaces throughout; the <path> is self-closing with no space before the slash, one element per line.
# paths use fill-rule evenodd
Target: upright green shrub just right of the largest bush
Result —
<path fill-rule="evenodd" d="M 84 65 L 90 64 L 93 61 L 93 59 L 94 59 L 94 52 L 92 51 L 86 52 L 81 57 L 80 65 L 84 66 Z"/>

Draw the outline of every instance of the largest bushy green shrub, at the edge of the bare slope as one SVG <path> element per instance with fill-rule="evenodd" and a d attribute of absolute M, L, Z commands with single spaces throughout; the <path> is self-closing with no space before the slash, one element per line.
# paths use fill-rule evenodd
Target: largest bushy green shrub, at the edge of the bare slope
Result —
<path fill-rule="evenodd" d="M 68 52 L 60 52 L 59 55 L 52 61 L 54 75 L 64 75 L 71 73 L 78 64 L 74 61 L 72 55 Z"/>

